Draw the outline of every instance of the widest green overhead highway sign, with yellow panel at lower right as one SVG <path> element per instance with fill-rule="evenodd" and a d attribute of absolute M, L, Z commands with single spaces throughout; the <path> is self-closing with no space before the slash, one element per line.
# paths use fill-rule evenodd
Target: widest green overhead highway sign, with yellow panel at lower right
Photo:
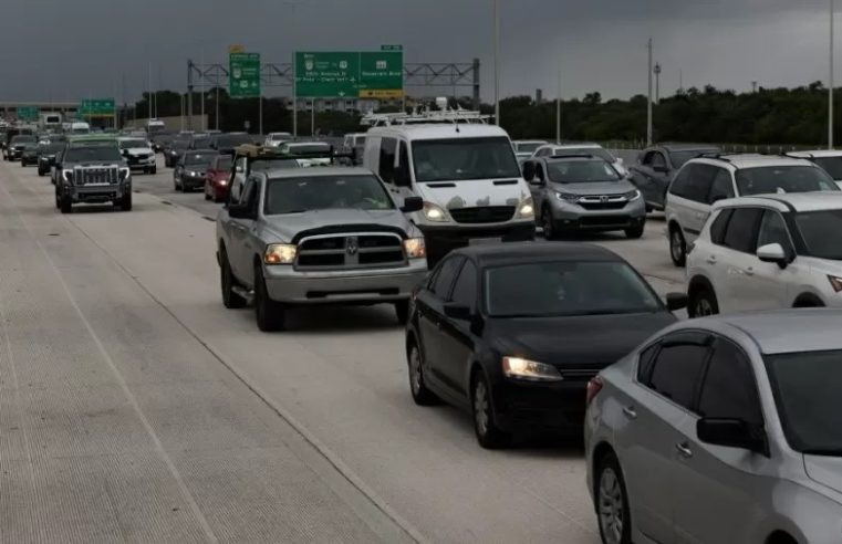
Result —
<path fill-rule="evenodd" d="M 295 94 L 304 98 L 399 98 L 404 95 L 404 53 L 399 49 L 298 52 Z"/>

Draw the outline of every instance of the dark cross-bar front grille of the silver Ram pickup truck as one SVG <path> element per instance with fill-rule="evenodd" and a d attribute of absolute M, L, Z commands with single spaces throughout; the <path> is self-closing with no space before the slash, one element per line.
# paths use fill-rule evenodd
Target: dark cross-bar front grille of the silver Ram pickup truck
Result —
<path fill-rule="evenodd" d="M 304 238 L 298 248 L 298 270 L 346 270 L 402 266 L 401 237 L 391 233 L 343 233 Z"/>

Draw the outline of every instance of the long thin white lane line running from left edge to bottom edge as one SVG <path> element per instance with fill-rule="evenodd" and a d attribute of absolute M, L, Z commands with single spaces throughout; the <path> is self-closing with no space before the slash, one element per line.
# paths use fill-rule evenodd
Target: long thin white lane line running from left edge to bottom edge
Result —
<path fill-rule="evenodd" d="M 20 180 L 18 181 L 20 182 Z M 64 292 L 67 295 L 67 299 L 70 300 L 71 305 L 73 306 L 73 310 L 75 310 L 76 314 L 79 315 L 79 318 L 82 320 L 82 323 L 84 323 L 85 328 L 87 329 L 87 333 L 91 335 L 91 338 L 94 341 L 94 344 L 96 344 L 96 348 L 98 349 L 103 359 L 108 365 L 112 373 L 114 373 L 114 377 L 117 380 L 117 384 L 119 384 L 119 387 L 123 389 L 123 394 L 126 396 L 126 399 L 128 399 L 128 402 L 132 405 L 132 408 L 134 408 L 135 414 L 137 415 L 137 418 L 141 420 L 144 428 L 146 429 L 146 432 L 149 435 L 149 438 L 155 444 L 155 450 L 166 463 L 167 469 L 169 470 L 169 473 L 173 475 L 173 479 L 176 481 L 178 489 L 181 491 L 181 494 L 184 495 L 185 501 L 190 506 L 190 511 L 194 513 L 194 515 L 198 520 L 199 525 L 201 525 L 201 529 L 205 532 L 205 536 L 208 538 L 208 542 L 218 543 L 219 538 L 217 538 L 216 534 L 214 534 L 214 530 L 210 529 L 210 524 L 208 523 L 208 520 L 205 517 L 205 514 L 201 513 L 201 510 L 199 509 L 198 503 L 196 502 L 193 494 L 190 493 L 190 490 L 187 488 L 187 484 L 185 484 L 184 479 L 181 478 L 181 474 L 178 472 L 178 469 L 176 469 L 175 463 L 173 463 L 173 459 L 170 459 L 169 454 L 164 449 L 164 444 L 160 442 L 160 439 L 155 433 L 155 429 L 152 428 L 149 420 L 146 418 L 146 415 L 141 409 L 141 405 L 137 404 L 137 399 L 132 394 L 132 390 L 128 388 L 128 385 L 126 385 L 125 378 L 123 377 L 121 372 L 117 369 L 117 366 L 114 364 L 114 359 L 111 358 L 111 355 L 105 349 L 105 345 L 100 339 L 100 336 L 96 334 L 96 331 L 94 331 L 94 327 L 91 325 L 91 322 L 87 321 L 87 317 L 85 317 L 85 314 L 82 312 L 82 308 L 79 306 L 79 303 L 76 303 L 76 300 L 73 297 L 73 294 L 71 293 L 70 287 L 67 286 L 67 283 L 64 281 L 64 278 L 61 275 L 59 268 L 55 265 L 55 262 L 50 257 L 50 253 L 48 253 L 46 249 L 43 247 L 41 241 L 34 236 L 34 233 L 32 232 L 32 229 L 30 229 L 29 227 L 29 223 L 27 223 L 27 220 L 23 219 L 23 215 L 20 212 L 20 207 L 18 206 L 18 201 L 15 200 L 15 198 L 12 196 L 11 192 L 9 192 L 9 189 L 6 187 L 4 184 L 0 184 L 0 186 L 2 186 L 3 192 L 8 195 L 9 199 L 14 205 L 14 212 L 20 219 L 21 224 L 23 224 L 23 228 L 27 230 L 27 233 L 32 239 L 32 241 L 35 242 L 38 248 L 41 250 L 41 253 L 44 255 L 44 259 L 52 268 L 53 272 L 55 273 L 55 276 L 59 279 L 59 283 L 61 283 L 62 287 L 64 289 Z"/>

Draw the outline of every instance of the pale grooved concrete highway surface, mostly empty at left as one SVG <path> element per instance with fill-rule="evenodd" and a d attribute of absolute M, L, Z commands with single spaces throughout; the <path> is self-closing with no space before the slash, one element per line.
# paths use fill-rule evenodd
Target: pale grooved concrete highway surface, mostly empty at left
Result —
<path fill-rule="evenodd" d="M 218 205 L 134 184 L 62 216 L 0 163 L 0 541 L 599 542 L 581 443 L 486 451 L 415 406 L 391 306 L 258 332 L 220 301 Z M 590 240 L 663 294 L 663 231 Z"/>

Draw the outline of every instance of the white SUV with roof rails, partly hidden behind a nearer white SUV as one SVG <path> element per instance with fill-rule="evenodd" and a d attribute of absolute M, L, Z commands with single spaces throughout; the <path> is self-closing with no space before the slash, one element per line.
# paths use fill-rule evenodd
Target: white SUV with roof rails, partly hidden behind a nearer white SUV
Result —
<path fill-rule="evenodd" d="M 840 190 L 833 179 L 807 159 L 775 155 L 710 154 L 685 163 L 666 195 L 669 257 L 676 266 L 698 237 L 718 200 L 751 195 Z"/>

